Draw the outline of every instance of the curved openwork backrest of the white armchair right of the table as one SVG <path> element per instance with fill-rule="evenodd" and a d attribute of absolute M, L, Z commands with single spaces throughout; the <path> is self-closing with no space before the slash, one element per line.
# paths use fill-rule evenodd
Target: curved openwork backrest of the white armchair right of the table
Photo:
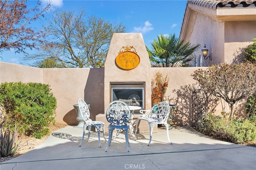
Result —
<path fill-rule="evenodd" d="M 162 122 L 166 122 L 170 114 L 170 106 L 166 101 L 157 103 L 151 109 L 150 117 L 158 117 Z"/>

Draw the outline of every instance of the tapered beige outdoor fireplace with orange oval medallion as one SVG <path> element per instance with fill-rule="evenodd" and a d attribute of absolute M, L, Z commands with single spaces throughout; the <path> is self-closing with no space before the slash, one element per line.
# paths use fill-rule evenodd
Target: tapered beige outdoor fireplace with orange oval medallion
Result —
<path fill-rule="evenodd" d="M 104 112 L 115 100 L 151 109 L 151 65 L 141 33 L 113 34 L 104 63 L 103 86 Z M 96 121 L 108 125 L 104 112 L 96 115 Z M 134 113 L 135 123 L 141 114 L 139 110 L 134 110 Z M 148 132 L 148 123 L 142 121 L 139 130 Z"/>

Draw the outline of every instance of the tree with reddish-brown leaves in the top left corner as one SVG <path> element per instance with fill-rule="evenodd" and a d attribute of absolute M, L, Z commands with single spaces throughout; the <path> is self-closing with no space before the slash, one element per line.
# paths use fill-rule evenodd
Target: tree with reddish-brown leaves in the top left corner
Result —
<path fill-rule="evenodd" d="M 35 42 L 43 42 L 45 34 L 33 30 L 30 22 L 37 20 L 50 8 L 47 4 L 40 10 L 41 2 L 33 8 L 27 8 L 27 0 L 0 1 L 0 53 L 4 50 L 15 49 L 24 52 L 27 47 L 32 49 Z"/>

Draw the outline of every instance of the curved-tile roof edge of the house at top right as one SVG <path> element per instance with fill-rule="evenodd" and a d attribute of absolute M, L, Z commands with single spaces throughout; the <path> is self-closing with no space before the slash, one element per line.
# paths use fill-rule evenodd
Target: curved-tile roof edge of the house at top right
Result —
<path fill-rule="evenodd" d="M 188 0 L 189 4 L 195 4 L 206 8 L 216 9 L 217 7 L 256 6 L 256 0 Z"/>

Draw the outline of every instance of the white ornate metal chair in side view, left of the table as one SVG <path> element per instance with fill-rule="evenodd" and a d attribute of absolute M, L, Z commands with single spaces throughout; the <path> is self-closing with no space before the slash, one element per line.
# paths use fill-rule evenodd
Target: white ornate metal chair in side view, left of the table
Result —
<path fill-rule="evenodd" d="M 85 101 L 83 99 L 78 100 L 78 105 L 79 105 L 79 110 L 81 112 L 81 115 L 84 119 L 83 136 L 82 136 L 82 141 L 80 142 L 79 146 L 81 146 L 82 142 L 84 141 L 84 134 L 85 134 L 86 127 L 88 127 L 88 131 L 89 131 L 88 132 L 88 139 L 87 139 L 87 141 L 89 141 L 91 127 L 94 126 L 94 127 L 97 128 L 98 142 L 99 142 L 99 146 L 101 147 L 101 144 L 100 144 L 100 128 L 101 127 L 102 127 L 102 131 L 103 131 L 104 139 L 107 142 L 107 140 L 105 138 L 104 122 L 102 122 L 102 121 L 92 121 L 92 119 L 90 119 L 90 111 L 88 109 L 87 104 L 85 103 Z"/>

